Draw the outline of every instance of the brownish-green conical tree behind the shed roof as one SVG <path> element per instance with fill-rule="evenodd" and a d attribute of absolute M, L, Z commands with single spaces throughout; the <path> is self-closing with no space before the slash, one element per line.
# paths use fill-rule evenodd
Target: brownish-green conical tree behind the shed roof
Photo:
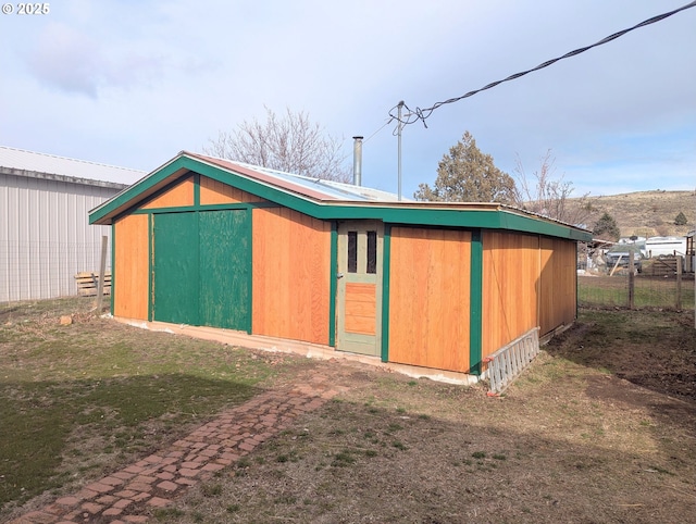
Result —
<path fill-rule="evenodd" d="M 514 204 L 518 190 L 514 179 L 496 167 L 493 157 L 482 153 L 474 137 L 465 132 L 440 160 L 434 187 L 420 184 L 413 197 L 437 202 Z"/>

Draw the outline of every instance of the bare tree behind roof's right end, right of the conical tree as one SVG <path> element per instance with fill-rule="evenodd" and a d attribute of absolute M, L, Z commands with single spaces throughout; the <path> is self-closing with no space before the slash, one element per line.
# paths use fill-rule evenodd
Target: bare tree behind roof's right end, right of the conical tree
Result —
<path fill-rule="evenodd" d="M 564 175 L 556 176 L 555 163 L 556 159 L 549 149 L 540 159 L 539 170 L 530 179 L 518 155 L 514 172 L 518 174 L 519 205 L 549 219 L 587 226 L 593 212 L 589 194 L 571 198 L 573 183 L 564 180 Z"/>

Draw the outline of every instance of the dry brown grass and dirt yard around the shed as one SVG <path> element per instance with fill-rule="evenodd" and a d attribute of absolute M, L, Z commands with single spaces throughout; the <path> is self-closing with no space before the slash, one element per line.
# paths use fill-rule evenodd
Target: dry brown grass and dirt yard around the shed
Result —
<path fill-rule="evenodd" d="M 282 383 L 297 379 L 301 367 L 331 373 L 348 392 L 188 490 L 174 507 L 152 510 L 151 521 L 652 523 L 693 522 L 696 514 L 691 315 L 582 311 L 577 325 L 555 339 L 504 397 L 487 398 L 483 385 L 465 388 L 290 357 L 274 364 L 261 353 L 99 319 L 59 328 L 50 313 L 15 311 L 10 321 L 7 310 L 2 314 L 2 404 L 33 399 L 23 409 L 34 417 L 47 413 L 47 403 L 57 409 L 52 396 L 32 394 L 37 382 L 70 386 L 62 391 L 66 401 L 83 399 L 51 477 L 62 484 L 25 508 L 138 457 L 128 440 L 117 450 L 114 431 L 133 432 L 151 450 L 191 427 L 181 417 L 188 408 L 164 404 L 138 419 L 137 431 L 128 429 L 122 408 L 114 407 L 128 388 L 102 398 L 96 395 L 99 384 L 134 380 L 140 387 L 138 373 L 148 370 L 153 378 L 160 376 L 153 370 L 177 366 L 204 378 L 186 386 L 188 398 L 203 400 L 197 410 L 208 407 L 197 414 L 202 422 L 229 401 L 206 389 L 213 373 L 215 384 L 257 384 L 232 400 L 238 402 L 253 395 L 271 369 Z M 98 358 L 85 355 L 88 350 Z M 78 387 L 83 374 L 94 377 L 91 389 Z M 176 387 L 162 383 L 158 390 L 172 388 L 182 400 Z M 16 444 L 13 433 L 0 436 L 0 446 Z M 115 454 L 104 454 L 109 445 Z M 7 462 L 0 474 L 4 467 Z"/>

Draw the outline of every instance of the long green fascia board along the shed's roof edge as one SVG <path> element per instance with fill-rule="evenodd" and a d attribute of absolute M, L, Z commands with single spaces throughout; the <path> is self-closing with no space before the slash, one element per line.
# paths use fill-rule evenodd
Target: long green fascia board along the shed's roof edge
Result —
<path fill-rule="evenodd" d="M 109 224 L 116 215 L 133 209 L 145 198 L 149 198 L 172 180 L 189 172 L 222 182 L 320 220 L 378 220 L 385 223 L 521 230 L 582 241 L 592 239 L 592 234 L 584 229 L 497 204 L 472 204 L 472 209 L 463 205 L 423 202 L 347 203 L 313 200 L 253 180 L 233 171 L 207 164 L 186 154 L 173 159 L 138 184 L 92 210 L 89 214 L 90 224 Z M 481 209 L 482 207 L 490 209 Z"/>

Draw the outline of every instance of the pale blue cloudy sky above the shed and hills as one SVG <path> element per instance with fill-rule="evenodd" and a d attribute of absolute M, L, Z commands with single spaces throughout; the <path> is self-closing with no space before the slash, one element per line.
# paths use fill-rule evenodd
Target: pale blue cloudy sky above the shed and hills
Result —
<path fill-rule="evenodd" d="M 0 145 L 152 171 L 219 130 L 304 111 L 397 190 L 388 111 L 426 108 L 687 0 L 65 0 L 0 15 Z M 11 3 L 16 8 L 18 3 Z M 696 188 L 696 8 L 438 109 L 402 136 L 403 195 L 469 130 L 496 165 L 594 196 Z M 120 180 L 132 183 L 134 180 Z"/>

